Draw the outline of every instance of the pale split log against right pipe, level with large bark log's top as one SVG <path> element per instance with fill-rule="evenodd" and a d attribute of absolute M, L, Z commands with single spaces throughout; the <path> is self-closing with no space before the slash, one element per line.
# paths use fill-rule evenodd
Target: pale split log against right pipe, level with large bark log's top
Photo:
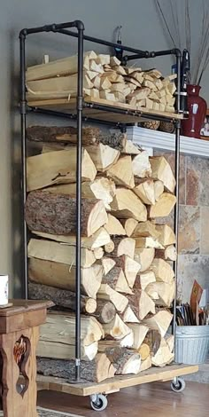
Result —
<path fill-rule="evenodd" d="M 149 214 L 151 218 L 169 216 L 174 209 L 176 197 L 170 193 L 162 193 L 159 201 L 154 206 L 150 206 Z"/>

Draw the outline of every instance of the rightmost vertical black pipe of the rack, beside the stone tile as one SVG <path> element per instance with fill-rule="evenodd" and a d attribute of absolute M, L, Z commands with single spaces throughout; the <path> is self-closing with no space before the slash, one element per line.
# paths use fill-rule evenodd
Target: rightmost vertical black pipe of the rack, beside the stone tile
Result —
<path fill-rule="evenodd" d="M 177 97 L 176 97 L 176 111 L 181 112 L 181 54 L 176 55 L 176 67 L 177 67 Z M 177 259 L 174 262 L 174 277 L 175 277 L 175 296 L 174 296 L 174 320 L 173 320 L 173 334 L 175 337 L 176 331 L 176 298 L 177 298 L 177 285 L 178 285 L 178 232 L 179 232 L 179 169 L 180 169 L 180 133 L 181 133 L 181 121 L 175 122 L 175 195 L 176 204 L 174 208 L 174 233 L 176 236 L 176 253 Z M 174 347 L 175 353 L 175 347 Z"/>

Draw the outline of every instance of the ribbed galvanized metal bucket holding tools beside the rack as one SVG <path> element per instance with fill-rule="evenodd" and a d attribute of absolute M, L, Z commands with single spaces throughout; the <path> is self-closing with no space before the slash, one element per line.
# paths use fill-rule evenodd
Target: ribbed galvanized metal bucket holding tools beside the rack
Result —
<path fill-rule="evenodd" d="M 175 362 L 203 364 L 209 352 L 209 326 L 177 326 Z"/>

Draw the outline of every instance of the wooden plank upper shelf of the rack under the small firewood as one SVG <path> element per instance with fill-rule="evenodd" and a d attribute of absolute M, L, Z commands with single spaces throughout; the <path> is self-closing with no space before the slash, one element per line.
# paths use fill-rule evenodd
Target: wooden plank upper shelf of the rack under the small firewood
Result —
<path fill-rule="evenodd" d="M 115 123 L 135 123 L 143 122 L 147 119 L 154 120 L 182 120 L 183 114 L 161 112 L 155 110 L 148 110 L 145 107 L 138 108 L 130 106 L 125 103 L 107 101 L 102 98 L 92 99 L 85 98 L 83 100 L 84 108 L 83 115 L 90 119 L 97 119 L 101 122 L 115 122 Z M 54 110 L 66 114 L 76 114 L 76 99 L 67 98 L 53 98 L 53 99 L 36 99 L 28 101 L 28 106 L 38 107 L 43 110 Z"/>

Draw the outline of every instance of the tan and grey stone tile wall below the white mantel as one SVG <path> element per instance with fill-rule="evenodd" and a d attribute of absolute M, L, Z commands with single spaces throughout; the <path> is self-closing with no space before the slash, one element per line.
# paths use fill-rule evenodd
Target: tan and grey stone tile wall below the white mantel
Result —
<path fill-rule="evenodd" d="M 154 150 L 162 154 L 174 168 L 174 153 Z M 194 279 L 209 288 L 209 158 L 181 154 L 178 260 L 178 297 L 185 303 Z"/>

